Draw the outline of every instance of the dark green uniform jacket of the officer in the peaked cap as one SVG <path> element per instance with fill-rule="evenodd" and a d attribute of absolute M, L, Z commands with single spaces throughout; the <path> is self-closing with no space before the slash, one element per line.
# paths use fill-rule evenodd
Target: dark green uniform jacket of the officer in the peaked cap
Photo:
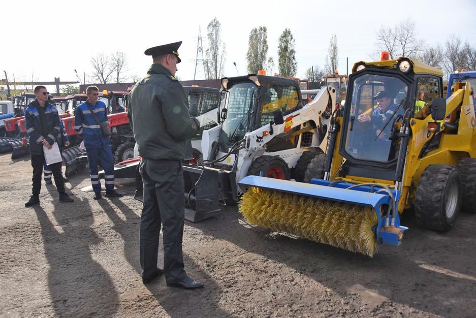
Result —
<path fill-rule="evenodd" d="M 185 91 L 165 67 L 154 63 L 147 74 L 128 97 L 139 154 L 152 160 L 183 160 L 200 123 L 190 117 Z"/>

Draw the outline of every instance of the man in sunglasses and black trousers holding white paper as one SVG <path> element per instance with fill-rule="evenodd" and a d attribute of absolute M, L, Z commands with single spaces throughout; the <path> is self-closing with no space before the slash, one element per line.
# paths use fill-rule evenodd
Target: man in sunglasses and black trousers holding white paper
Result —
<path fill-rule="evenodd" d="M 33 206 L 40 203 L 41 175 L 45 154 L 43 147 L 51 149 L 57 142 L 60 134 L 59 115 L 56 107 L 48 104 L 48 91 L 45 86 L 35 87 L 36 99 L 31 102 L 25 111 L 26 133 L 29 137 L 31 167 L 33 167 L 33 190 L 32 195 L 25 206 Z M 74 200 L 65 192 L 65 182 L 61 176 L 61 162 L 51 164 L 54 182 L 59 193 L 60 202 L 73 202 Z"/>

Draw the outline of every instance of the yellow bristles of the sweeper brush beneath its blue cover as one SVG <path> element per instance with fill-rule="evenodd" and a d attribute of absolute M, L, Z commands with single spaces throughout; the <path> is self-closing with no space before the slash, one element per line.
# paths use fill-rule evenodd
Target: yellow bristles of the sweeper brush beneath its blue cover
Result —
<path fill-rule="evenodd" d="M 238 203 L 252 224 L 372 257 L 378 244 L 371 207 L 251 187 Z"/>

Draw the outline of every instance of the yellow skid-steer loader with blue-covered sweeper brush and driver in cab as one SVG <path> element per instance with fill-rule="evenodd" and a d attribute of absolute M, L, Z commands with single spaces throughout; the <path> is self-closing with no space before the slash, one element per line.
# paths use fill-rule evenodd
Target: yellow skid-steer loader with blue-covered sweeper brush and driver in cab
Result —
<path fill-rule="evenodd" d="M 476 213 L 470 84 L 457 83 L 445 100 L 441 71 L 407 58 L 358 62 L 348 84 L 326 154 L 311 160 L 304 182 L 244 177 L 243 216 L 372 257 L 380 244 L 400 245 L 406 209 L 418 226 L 440 232 L 460 209 Z"/>

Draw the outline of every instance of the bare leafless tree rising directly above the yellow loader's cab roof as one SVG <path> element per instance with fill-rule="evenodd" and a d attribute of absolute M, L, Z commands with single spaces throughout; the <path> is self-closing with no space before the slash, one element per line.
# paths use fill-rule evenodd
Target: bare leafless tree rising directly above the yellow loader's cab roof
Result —
<path fill-rule="evenodd" d="M 393 28 L 380 27 L 376 36 L 377 48 L 380 51 L 389 52 L 390 59 L 396 59 L 399 56 L 416 57 L 418 51 L 424 46 L 424 41 L 416 37 L 415 23 L 409 18 Z"/>

